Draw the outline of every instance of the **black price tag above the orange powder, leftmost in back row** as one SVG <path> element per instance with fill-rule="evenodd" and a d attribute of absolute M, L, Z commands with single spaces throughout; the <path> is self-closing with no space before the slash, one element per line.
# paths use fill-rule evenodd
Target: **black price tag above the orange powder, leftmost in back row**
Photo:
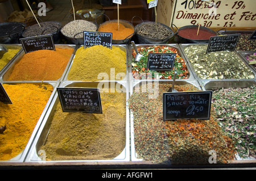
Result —
<path fill-rule="evenodd" d="M 55 50 L 53 35 L 26 37 L 20 39 L 20 42 L 22 43 L 25 53 L 42 49 Z"/>

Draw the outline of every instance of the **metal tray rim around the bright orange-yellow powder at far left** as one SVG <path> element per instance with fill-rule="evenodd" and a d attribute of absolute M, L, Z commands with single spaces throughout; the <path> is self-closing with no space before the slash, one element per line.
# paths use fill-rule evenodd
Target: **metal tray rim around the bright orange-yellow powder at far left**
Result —
<path fill-rule="evenodd" d="M 22 83 L 28 83 L 28 84 L 33 84 L 33 85 L 40 85 L 41 82 L 15 82 L 15 81 L 11 81 L 11 82 L 2 82 L 2 84 L 9 84 L 9 85 L 18 85 L 18 84 L 22 84 Z M 39 117 L 39 120 L 38 120 L 38 123 L 36 124 L 35 128 L 34 128 L 34 131 L 32 132 L 31 136 L 30 136 L 30 140 L 28 140 L 27 142 L 27 145 L 26 147 L 24 148 L 24 150 L 22 151 L 22 153 L 18 154 L 16 157 L 14 158 L 11 158 L 10 160 L 8 161 L 0 161 L 0 163 L 3 163 L 3 162 L 24 162 L 24 159 L 26 158 L 26 155 L 28 153 L 28 150 L 30 149 L 31 147 L 31 144 L 34 140 L 34 137 L 36 136 L 36 134 L 38 133 L 38 129 L 40 128 L 41 124 L 42 124 L 42 121 L 44 119 L 44 116 L 46 115 L 46 112 L 52 102 L 52 99 L 53 99 L 53 95 L 54 95 L 54 92 L 56 91 L 56 87 L 59 86 L 59 82 L 51 82 L 51 81 L 48 81 L 48 82 L 44 82 L 45 85 L 52 85 L 53 87 L 53 91 L 52 91 L 52 94 L 51 96 L 49 97 L 49 100 L 46 104 L 46 107 L 44 107 L 44 110 L 41 114 L 41 116 Z"/>

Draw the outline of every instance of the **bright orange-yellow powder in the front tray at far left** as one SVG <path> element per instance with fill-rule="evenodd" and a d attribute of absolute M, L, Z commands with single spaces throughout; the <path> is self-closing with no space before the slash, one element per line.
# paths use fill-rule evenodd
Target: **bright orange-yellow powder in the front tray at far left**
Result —
<path fill-rule="evenodd" d="M 52 94 L 51 85 L 31 83 L 3 84 L 13 104 L 0 102 L 0 160 L 6 161 L 20 154 L 27 145 L 35 125 Z"/>

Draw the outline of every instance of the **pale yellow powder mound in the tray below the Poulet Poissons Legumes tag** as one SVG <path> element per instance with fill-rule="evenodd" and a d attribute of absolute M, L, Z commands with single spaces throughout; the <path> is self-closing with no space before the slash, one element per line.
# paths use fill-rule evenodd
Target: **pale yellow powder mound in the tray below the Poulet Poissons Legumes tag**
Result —
<path fill-rule="evenodd" d="M 126 52 L 114 46 L 109 49 L 95 45 L 86 49 L 84 47 L 77 49 L 67 79 L 69 81 L 120 80 L 125 75 Z"/>

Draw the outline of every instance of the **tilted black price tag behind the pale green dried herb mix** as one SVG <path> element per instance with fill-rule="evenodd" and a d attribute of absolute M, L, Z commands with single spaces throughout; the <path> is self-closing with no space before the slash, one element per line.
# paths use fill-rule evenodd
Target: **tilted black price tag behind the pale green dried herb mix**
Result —
<path fill-rule="evenodd" d="M 224 36 L 212 36 L 210 37 L 207 47 L 207 53 L 218 51 L 233 51 L 237 46 L 241 34 L 232 34 Z"/>

